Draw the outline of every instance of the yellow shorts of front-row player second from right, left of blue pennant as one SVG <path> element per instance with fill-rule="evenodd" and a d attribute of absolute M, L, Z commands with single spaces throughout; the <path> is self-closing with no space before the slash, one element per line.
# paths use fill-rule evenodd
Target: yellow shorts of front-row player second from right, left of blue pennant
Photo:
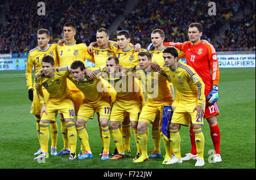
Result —
<path fill-rule="evenodd" d="M 142 107 L 139 122 L 153 123 L 157 115 L 160 115 L 161 119 L 163 106 L 171 106 L 171 104 L 172 102 L 152 103 L 147 101 Z"/>

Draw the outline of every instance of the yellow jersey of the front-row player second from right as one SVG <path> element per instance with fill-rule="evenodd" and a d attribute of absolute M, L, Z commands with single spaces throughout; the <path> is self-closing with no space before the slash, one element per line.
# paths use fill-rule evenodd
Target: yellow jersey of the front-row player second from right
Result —
<path fill-rule="evenodd" d="M 167 74 L 162 70 L 157 72 L 144 73 L 144 71 L 136 67 L 136 76 L 141 81 L 142 91 L 146 93 L 146 101 L 152 103 L 172 102 L 173 97 L 167 86 Z"/>

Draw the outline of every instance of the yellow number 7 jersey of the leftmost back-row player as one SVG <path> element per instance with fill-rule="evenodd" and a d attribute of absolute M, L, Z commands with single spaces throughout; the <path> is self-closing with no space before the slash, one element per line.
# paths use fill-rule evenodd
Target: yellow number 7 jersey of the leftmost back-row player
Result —
<path fill-rule="evenodd" d="M 26 80 L 27 80 L 27 87 L 28 89 L 31 89 L 32 87 L 35 87 L 35 83 L 33 85 L 32 83 L 32 71 L 33 66 L 35 70 L 35 74 L 38 74 L 39 70 L 42 69 L 42 59 L 44 56 L 51 56 L 53 57 L 56 64 L 56 58 L 57 58 L 57 51 L 56 51 L 57 44 L 48 44 L 48 48 L 46 50 L 41 50 L 39 47 L 36 47 L 34 49 L 31 49 L 30 52 L 28 52 L 28 58 L 27 58 L 27 67 L 26 67 Z M 35 78 L 34 78 L 35 82 Z"/>

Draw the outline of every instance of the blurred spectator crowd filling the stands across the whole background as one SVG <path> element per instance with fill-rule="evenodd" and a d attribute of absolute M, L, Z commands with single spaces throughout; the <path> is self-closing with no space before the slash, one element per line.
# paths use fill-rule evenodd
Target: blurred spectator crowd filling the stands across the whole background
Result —
<path fill-rule="evenodd" d="M 165 41 L 187 41 L 187 27 L 192 22 L 203 24 L 203 37 L 217 50 L 255 49 L 255 6 L 249 15 L 232 20 L 238 10 L 254 0 L 218 0 L 216 15 L 209 15 L 208 2 L 188 0 L 138 0 L 134 9 L 119 24 L 119 30 L 131 34 L 132 43 L 143 48 L 151 42 L 150 34 L 160 28 L 165 32 Z M 0 0 L 3 2 L 3 0 Z M 36 31 L 47 28 L 51 43 L 63 38 L 63 24 L 74 22 L 77 37 L 87 45 L 96 41 L 96 31 L 108 28 L 117 15 L 123 15 L 126 0 L 48 0 L 46 15 L 39 16 L 37 1 L 11 0 L 5 26 L 0 24 L 0 53 L 27 53 L 37 44 Z M 2 3 L 1 3 L 2 4 Z M 1 9 L 1 7 L 0 7 Z M 229 28 L 220 35 L 220 28 L 229 23 Z M 116 40 L 116 33 L 110 39 Z M 220 36 L 214 40 L 214 36 Z"/>

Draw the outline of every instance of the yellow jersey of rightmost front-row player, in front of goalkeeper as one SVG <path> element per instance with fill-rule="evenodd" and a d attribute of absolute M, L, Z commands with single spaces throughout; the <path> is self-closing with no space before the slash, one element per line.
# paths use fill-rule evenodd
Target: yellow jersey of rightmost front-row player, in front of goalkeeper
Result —
<path fill-rule="evenodd" d="M 168 75 L 176 90 L 173 106 L 179 101 L 205 104 L 204 82 L 191 66 L 178 62 L 174 71 L 166 66 L 163 66 L 162 71 Z"/>

